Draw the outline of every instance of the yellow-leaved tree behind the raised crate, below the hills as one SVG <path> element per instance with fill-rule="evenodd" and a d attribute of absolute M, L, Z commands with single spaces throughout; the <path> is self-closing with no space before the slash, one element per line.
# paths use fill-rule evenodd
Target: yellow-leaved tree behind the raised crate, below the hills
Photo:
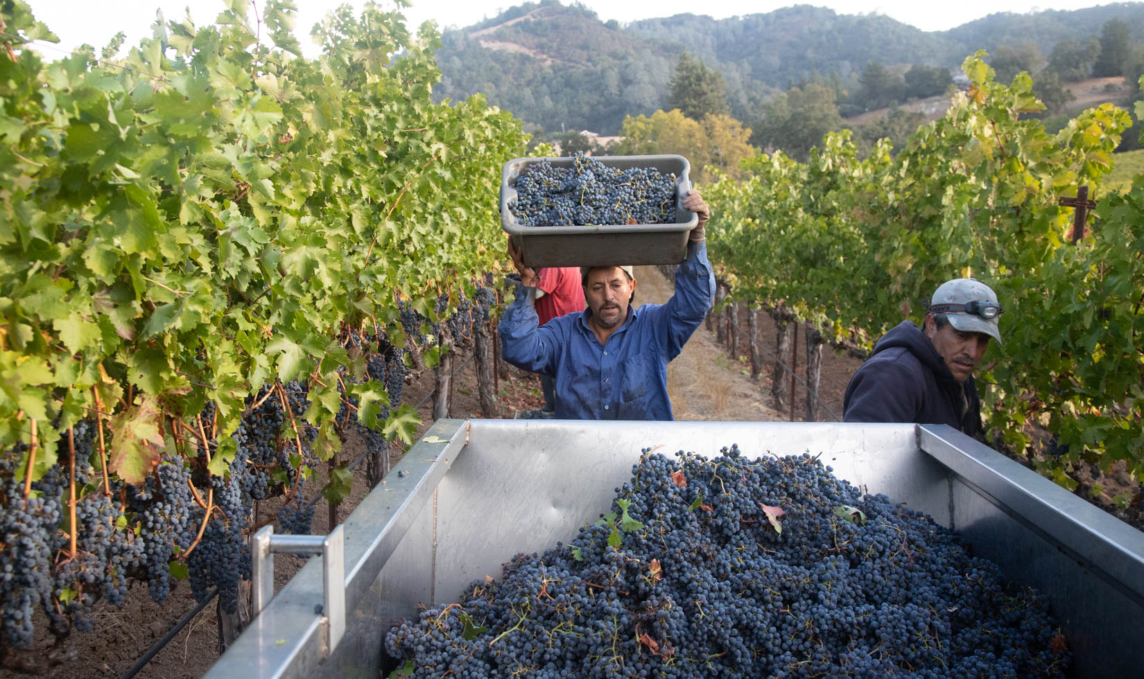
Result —
<path fill-rule="evenodd" d="M 656 111 L 648 115 L 628 117 L 621 131 L 623 139 L 614 149 L 619 155 L 678 153 L 691 162 L 691 181 L 710 179 L 704 170 L 715 166 L 732 178 L 740 178 L 739 161 L 755 154 L 748 143 L 750 130 L 724 113 L 708 113 L 693 120 L 678 109 Z"/>

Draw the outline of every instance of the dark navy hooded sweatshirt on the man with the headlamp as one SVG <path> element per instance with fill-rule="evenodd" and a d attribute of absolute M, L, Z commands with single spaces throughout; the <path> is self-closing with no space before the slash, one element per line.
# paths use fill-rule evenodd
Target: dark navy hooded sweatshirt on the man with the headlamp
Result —
<path fill-rule="evenodd" d="M 958 382 L 921 328 L 903 321 L 874 346 L 843 399 L 845 422 L 948 424 L 982 433 L 982 401 L 972 376 Z"/>

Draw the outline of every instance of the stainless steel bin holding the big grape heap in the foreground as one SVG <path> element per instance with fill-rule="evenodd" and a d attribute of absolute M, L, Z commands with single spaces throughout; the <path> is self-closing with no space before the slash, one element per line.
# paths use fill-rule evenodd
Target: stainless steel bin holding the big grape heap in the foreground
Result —
<path fill-rule="evenodd" d="M 716 455 L 731 444 L 748 456 L 821 453 L 840 478 L 929 513 L 1048 597 L 1071 676 L 1138 676 L 1144 533 L 948 426 L 442 420 L 395 466 L 406 476 L 386 477 L 343 524 L 348 620 L 333 652 L 315 560 L 207 677 L 375 678 L 394 620 L 573 537 L 606 511 L 641 448 Z"/>

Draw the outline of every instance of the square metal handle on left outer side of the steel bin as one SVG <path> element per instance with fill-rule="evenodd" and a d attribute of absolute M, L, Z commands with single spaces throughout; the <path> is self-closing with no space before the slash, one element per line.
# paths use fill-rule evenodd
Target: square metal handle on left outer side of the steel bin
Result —
<path fill-rule="evenodd" d="M 275 597 L 275 554 L 308 557 L 321 554 L 323 609 L 318 614 L 325 629 L 323 657 L 328 657 L 345 633 L 345 543 L 342 527 L 329 535 L 275 535 L 273 526 L 254 534 L 252 590 L 254 616 Z"/>

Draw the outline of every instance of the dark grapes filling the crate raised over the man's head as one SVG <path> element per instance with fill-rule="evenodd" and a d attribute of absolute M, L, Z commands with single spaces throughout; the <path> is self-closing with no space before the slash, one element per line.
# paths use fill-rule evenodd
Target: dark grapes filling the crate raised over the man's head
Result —
<path fill-rule="evenodd" d="M 570 168 L 547 160 L 529 165 L 516 179 L 509 209 L 525 226 L 669 224 L 675 184 L 675 174 L 611 168 L 581 152 Z"/>

